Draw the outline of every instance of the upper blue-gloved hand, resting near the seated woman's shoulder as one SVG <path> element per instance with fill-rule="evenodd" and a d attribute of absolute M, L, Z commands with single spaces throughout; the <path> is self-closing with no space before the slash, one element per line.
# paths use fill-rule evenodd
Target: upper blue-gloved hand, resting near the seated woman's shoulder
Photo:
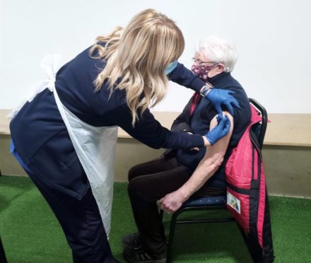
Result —
<path fill-rule="evenodd" d="M 207 93 L 206 98 L 213 103 L 213 106 L 216 108 L 216 111 L 219 115 L 222 114 L 223 111 L 221 110 L 221 104 L 224 104 L 225 107 L 228 109 L 231 115 L 234 115 L 233 106 L 240 107 L 239 103 L 232 95 L 235 92 L 232 90 L 222 90 L 221 88 L 212 88 L 209 93 Z"/>

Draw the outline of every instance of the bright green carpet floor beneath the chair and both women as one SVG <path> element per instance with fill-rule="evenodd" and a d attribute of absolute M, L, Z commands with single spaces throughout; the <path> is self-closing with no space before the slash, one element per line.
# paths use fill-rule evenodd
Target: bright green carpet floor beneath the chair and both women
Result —
<path fill-rule="evenodd" d="M 311 262 L 311 200 L 270 197 L 270 206 L 275 262 Z M 121 262 L 120 240 L 135 229 L 127 184 L 115 183 L 110 245 Z M 8 263 L 71 262 L 56 218 L 28 177 L 0 177 L 0 235 Z M 174 262 L 251 262 L 235 223 L 177 226 L 175 237 Z"/>

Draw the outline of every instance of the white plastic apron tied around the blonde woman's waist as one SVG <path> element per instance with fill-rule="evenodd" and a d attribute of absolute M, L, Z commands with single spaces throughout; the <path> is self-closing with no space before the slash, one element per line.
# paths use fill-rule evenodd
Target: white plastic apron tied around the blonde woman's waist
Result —
<path fill-rule="evenodd" d="M 112 194 L 114 181 L 115 145 L 117 143 L 117 127 L 93 127 L 78 119 L 59 100 L 54 85 L 57 63 L 60 57 L 49 55 L 43 59 L 41 66 L 47 74 L 47 80 L 37 86 L 37 93 L 49 88 L 54 93 L 57 107 L 68 130 L 78 159 L 86 172 L 93 196 L 98 204 L 102 223 L 107 236 L 110 233 Z M 17 111 L 18 112 L 18 111 Z M 17 112 L 13 114 L 16 115 Z"/>

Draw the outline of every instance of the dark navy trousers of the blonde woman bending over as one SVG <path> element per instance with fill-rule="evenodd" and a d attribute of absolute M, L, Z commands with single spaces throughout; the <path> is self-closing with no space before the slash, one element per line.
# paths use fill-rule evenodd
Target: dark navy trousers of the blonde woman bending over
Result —
<path fill-rule="evenodd" d="M 91 189 L 88 189 L 81 200 L 77 200 L 40 184 L 35 180 L 34 174 L 28 175 L 61 224 L 71 247 L 74 263 L 115 262 Z"/>

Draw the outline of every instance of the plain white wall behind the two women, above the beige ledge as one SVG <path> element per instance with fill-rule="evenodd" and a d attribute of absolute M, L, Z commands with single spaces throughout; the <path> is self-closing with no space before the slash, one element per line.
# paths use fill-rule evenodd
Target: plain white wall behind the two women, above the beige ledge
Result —
<path fill-rule="evenodd" d="M 240 54 L 233 76 L 269 112 L 311 113 L 311 1 L 308 0 L 0 0 L 0 109 L 13 108 L 42 78 L 45 54 L 63 62 L 97 35 L 155 8 L 173 18 L 186 40 L 180 62 L 191 66 L 194 45 L 217 33 Z M 180 111 L 191 90 L 170 83 L 158 111 Z"/>

